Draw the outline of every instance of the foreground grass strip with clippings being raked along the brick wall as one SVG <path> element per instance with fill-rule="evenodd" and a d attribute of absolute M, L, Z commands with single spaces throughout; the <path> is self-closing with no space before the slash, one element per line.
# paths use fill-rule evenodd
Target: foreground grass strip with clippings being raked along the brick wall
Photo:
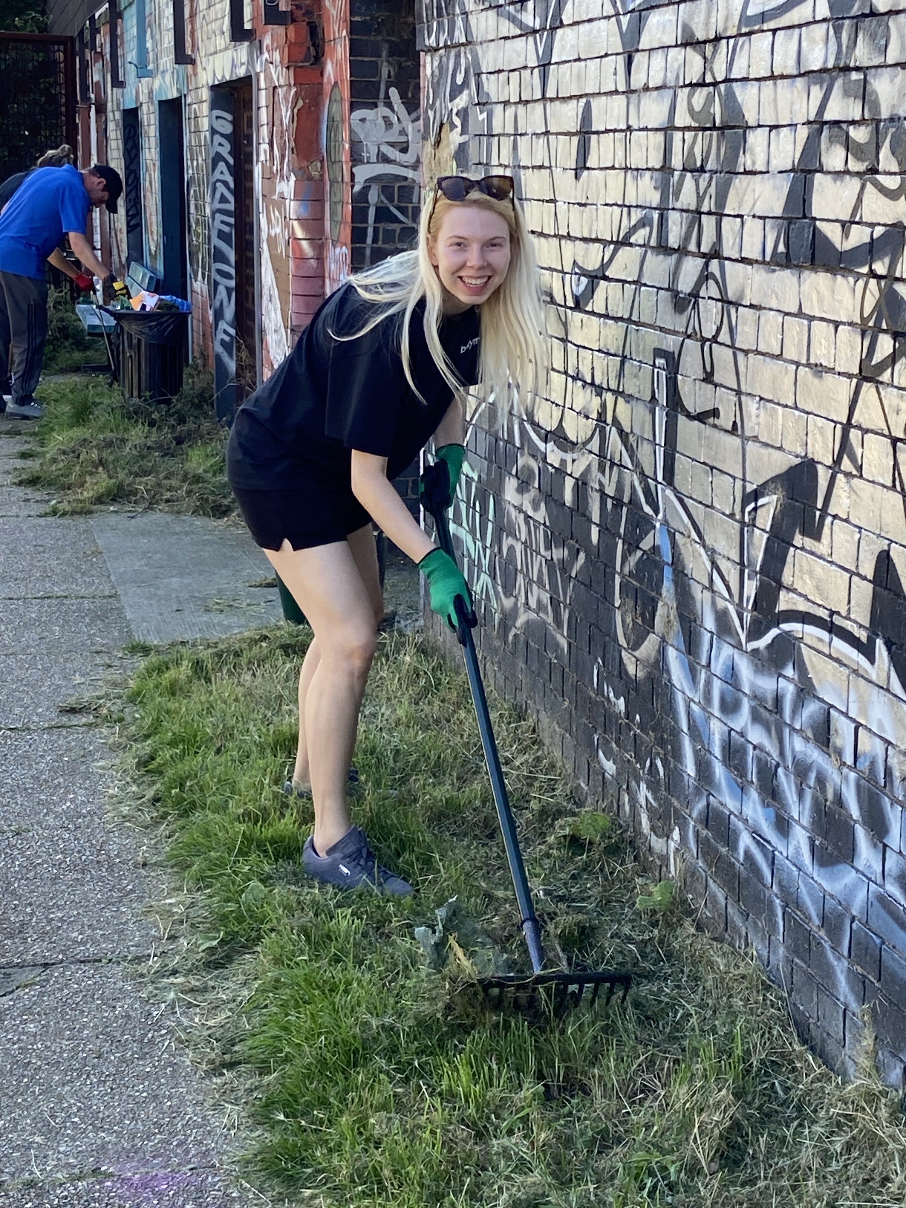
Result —
<path fill-rule="evenodd" d="M 354 808 L 417 896 L 307 881 L 309 807 L 278 789 L 306 634 L 155 654 L 126 724 L 196 917 L 174 993 L 202 1004 L 196 1041 L 251 1097 L 259 1178 L 343 1208 L 906 1201 L 900 1099 L 870 1055 L 852 1085 L 825 1069 L 760 969 L 697 933 L 493 702 L 551 956 L 635 983 L 625 1006 L 558 1022 L 494 1015 L 461 965 L 426 969 L 414 928 L 453 895 L 515 968 L 524 956 L 465 678 L 414 638 L 381 640 Z"/>

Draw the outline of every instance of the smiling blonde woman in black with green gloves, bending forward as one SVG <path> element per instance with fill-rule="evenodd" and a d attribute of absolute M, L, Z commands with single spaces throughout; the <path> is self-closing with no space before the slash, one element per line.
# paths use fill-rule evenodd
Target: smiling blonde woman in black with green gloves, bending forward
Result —
<path fill-rule="evenodd" d="M 237 412 L 230 482 L 257 544 L 314 631 L 298 684 L 291 789 L 310 792 L 302 864 L 316 881 L 408 895 L 347 802 L 359 709 L 383 616 L 372 523 L 425 575 L 448 623 L 465 580 L 391 480 L 429 440 L 465 455 L 464 390 L 532 390 L 545 364 L 538 266 L 511 176 L 442 176 L 418 248 L 353 277 Z"/>

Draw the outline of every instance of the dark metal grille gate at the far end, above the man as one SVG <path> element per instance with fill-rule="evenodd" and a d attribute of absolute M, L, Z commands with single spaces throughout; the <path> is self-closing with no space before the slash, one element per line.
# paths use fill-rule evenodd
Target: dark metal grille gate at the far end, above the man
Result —
<path fill-rule="evenodd" d="M 0 33 L 0 180 L 62 143 L 77 150 L 72 39 Z"/>

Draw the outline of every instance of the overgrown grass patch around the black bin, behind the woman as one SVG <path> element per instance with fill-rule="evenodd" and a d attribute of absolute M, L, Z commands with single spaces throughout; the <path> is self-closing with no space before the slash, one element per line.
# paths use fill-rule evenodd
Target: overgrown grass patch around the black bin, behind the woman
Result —
<path fill-rule="evenodd" d="M 93 377 L 46 382 L 45 416 L 31 430 L 28 469 L 17 482 L 51 490 L 58 515 L 99 504 L 231 516 L 226 429 L 214 418 L 211 377 L 188 366 L 172 403 L 123 401 Z"/>

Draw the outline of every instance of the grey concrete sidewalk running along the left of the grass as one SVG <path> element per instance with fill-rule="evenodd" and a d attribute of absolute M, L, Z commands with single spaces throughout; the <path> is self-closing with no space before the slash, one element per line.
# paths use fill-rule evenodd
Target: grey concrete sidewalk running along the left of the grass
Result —
<path fill-rule="evenodd" d="M 42 516 L 11 484 L 22 428 L 0 417 L 0 1208 L 260 1208 L 226 1169 L 204 1078 L 129 977 L 164 887 L 147 841 L 105 819 L 104 726 L 60 705 L 133 638 L 279 618 L 275 588 L 254 586 L 272 570 L 223 523 Z"/>

